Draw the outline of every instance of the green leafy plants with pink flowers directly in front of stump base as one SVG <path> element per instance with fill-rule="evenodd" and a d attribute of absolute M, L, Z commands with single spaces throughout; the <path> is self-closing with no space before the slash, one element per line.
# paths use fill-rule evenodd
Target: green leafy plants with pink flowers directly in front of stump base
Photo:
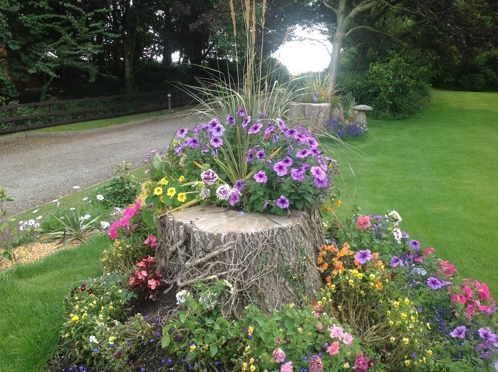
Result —
<path fill-rule="evenodd" d="M 163 347 L 178 371 L 324 371 L 354 364 L 358 341 L 323 306 L 299 310 L 294 304 L 270 315 L 248 306 L 240 321 L 225 319 L 220 296 L 230 283 L 198 282 L 195 292 L 177 294 L 182 310 L 163 330 Z M 206 302 L 206 298 L 210 298 Z"/>

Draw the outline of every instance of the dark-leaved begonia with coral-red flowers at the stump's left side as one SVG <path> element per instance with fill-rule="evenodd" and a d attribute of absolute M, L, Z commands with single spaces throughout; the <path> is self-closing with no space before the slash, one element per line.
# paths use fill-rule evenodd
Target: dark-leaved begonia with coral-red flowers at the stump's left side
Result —
<path fill-rule="evenodd" d="M 162 274 L 157 270 L 154 257 L 148 256 L 136 264 L 133 275 L 129 278 L 131 289 L 142 298 L 154 299 L 157 288 L 161 285 Z"/>

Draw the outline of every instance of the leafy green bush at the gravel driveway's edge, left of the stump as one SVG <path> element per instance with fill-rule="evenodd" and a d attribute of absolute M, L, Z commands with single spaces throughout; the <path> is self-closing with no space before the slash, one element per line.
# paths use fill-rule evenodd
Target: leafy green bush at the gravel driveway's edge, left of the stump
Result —
<path fill-rule="evenodd" d="M 90 195 L 91 200 L 96 200 L 106 207 L 124 207 L 133 203 L 136 198 L 140 183 L 129 173 L 131 164 L 120 163 L 115 168 L 115 175 L 109 183 L 99 186 Z"/>

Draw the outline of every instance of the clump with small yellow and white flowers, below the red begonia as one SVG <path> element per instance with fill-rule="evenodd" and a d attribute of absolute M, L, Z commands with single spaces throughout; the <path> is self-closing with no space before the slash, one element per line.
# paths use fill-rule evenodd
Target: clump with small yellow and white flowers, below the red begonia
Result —
<path fill-rule="evenodd" d="M 122 322 L 133 293 L 125 279 L 107 273 L 71 290 L 65 301 L 62 347 L 67 360 L 123 371 L 126 361 L 150 338 L 141 316 Z"/>

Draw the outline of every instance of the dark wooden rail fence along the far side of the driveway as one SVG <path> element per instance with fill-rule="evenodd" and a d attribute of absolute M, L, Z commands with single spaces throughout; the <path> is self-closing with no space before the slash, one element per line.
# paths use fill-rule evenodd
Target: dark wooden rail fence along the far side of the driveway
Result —
<path fill-rule="evenodd" d="M 170 97 L 168 94 L 168 91 L 158 91 L 0 106 L 0 134 L 159 111 L 192 103 L 192 98 L 185 94 L 173 93 Z"/>

